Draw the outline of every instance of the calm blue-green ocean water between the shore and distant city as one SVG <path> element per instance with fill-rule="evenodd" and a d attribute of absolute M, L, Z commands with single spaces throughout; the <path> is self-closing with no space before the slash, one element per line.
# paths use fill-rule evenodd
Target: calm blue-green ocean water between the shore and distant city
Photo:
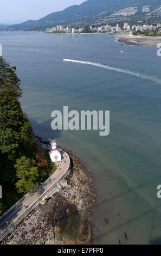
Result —
<path fill-rule="evenodd" d="M 4 58 L 17 66 L 22 109 L 36 135 L 47 140 L 56 137 L 62 148 L 72 151 L 91 170 L 101 193 L 94 206 L 93 243 L 161 244 L 161 199 L 157 198 L 161 58 L 157 47 L 121 46 L 111 35 L 31 32 L 1 32 L 0 43 Z M 63 62 L 63 58 L 106 68 Z M 50 115 L 63 106 L 78 111 L 110 110 L 110 135 L 55 133 Z"/>

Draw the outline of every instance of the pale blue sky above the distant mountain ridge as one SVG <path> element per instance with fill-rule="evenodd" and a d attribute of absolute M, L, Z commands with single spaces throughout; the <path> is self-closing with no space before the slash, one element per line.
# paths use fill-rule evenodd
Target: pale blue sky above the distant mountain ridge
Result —
<path fill-rule="evenodd" d="M 86 0 L 0 0 L 0 23 L 21 23 L 38 20 L 63 10 L 70 5 L 81 4 Z"/>

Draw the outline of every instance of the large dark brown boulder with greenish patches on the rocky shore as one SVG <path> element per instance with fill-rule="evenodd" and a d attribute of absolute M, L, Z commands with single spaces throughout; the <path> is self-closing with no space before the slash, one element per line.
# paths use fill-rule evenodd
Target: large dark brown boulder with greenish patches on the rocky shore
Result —
<path fill-rule="evenodd" d="M 41 206 L 41 212 L 54 235 L 63 241 L 70 244 L 91 243 L 91 227 L 87 220 L 79 215 L 76 205 L 59 193 Z"/>

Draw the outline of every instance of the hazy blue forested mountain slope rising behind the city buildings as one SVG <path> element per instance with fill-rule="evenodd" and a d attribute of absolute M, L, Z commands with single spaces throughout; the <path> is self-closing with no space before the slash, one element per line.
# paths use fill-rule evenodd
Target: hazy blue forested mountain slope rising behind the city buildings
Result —
<path fill-rule="evenodd" d="M 10 30 L 38 30 L 60 25 L 101 22 L 115 17 L 136 20 L 161 19 L 161 0 L 88 0 L 65 10 L 51 13 L 40 20 L 29 20 L 8 26 Z"/>

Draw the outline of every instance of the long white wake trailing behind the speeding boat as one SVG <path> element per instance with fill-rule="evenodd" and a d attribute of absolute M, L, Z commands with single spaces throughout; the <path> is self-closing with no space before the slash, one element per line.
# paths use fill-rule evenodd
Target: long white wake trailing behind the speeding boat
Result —
<path fill-rule="evenodd" d="M 143 79 L 146 79 L 146 80 L 151 80 L 153 82 L 157 82 L 157 83 L 161 84 L 161 80 L 159 80 L 157 78 L 154 78 L 152 76 L 141 75 L 139 73 L 132 72 L 132 71 L 127 70 L 127 69 L 115 68 L 113 66 L 103 65 L 103 64 L 95 63 L 95 62 L 82 62 L 80 60 L 74 60 L 74 59 L 63 59 L 63 61 L 98 66 L 99 68 L 108 69 L 108 70 L 112 70 L 112 71 L 116 71 L 116 72 L 120 72 L 120 73 L 125 73 L 125 74 L 132 75 L 132 76 L 137 76 L 137 77 L 140 77 L 140 78 L 143 78 Z"/>

